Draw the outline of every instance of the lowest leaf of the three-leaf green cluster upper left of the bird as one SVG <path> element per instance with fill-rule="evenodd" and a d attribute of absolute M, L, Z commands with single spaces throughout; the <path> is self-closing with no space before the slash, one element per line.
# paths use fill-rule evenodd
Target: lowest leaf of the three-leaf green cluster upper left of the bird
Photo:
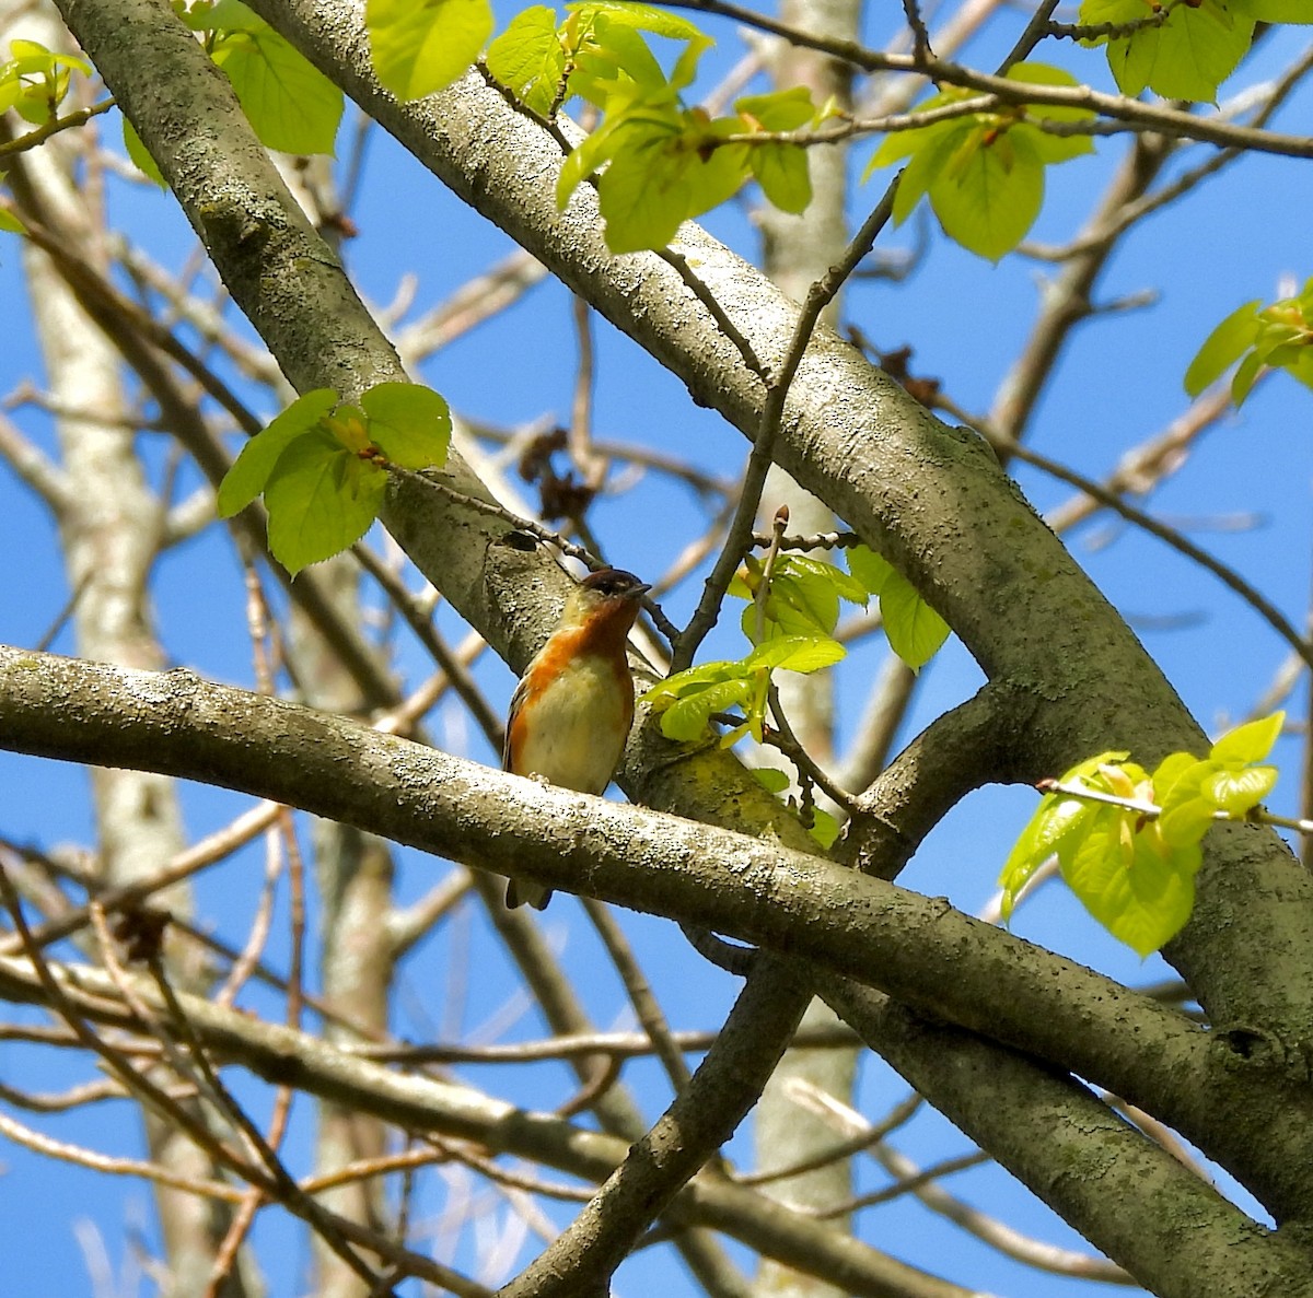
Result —
<path fill-rule="evenodd" d="M 278 457 L 264 491 L 269 550 L 295 576 L 358 541 L 378 514 L 387 474 L 323 429 L 302 433 Z"/>

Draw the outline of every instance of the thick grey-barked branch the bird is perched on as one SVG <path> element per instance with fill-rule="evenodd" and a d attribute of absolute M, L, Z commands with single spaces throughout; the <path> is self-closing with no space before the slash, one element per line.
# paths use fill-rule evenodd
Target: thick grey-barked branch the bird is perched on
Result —
<path fill-rule="evenodd" d="M 1205 1033 L 943 899 L 189 672 L 0 650 L 0 743 L 257 793 L 457 861 L 810 959 L 1107 1087 L 1205 1147 L 1278 1217 L 1302 1211 L 1299 1151 L 1313 1158 L 1313 1097 L 1299 1075 L 1267 1068 L 1260 1055 L 1247 1062 L 1253 1037 Z M 1280 1158 L 1255 1155 L 1259 1146 Z"/>

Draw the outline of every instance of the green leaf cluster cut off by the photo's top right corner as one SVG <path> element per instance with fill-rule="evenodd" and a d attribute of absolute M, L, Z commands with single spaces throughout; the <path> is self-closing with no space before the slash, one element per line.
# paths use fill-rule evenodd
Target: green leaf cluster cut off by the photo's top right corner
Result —
<path fill-rule="evenodd" d="M 1211 104 L 1254 41 L 1258 22 L 1313 22 L 1306 0 L 1083 0 L 1082 24 L 1133 30 L 1099 37 L 1123 94 Z"/>

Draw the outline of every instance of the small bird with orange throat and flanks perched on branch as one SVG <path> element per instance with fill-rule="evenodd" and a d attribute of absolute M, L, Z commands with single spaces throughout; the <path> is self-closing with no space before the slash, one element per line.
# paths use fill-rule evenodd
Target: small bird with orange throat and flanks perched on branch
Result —
<path fill-rule="evenodd" d="M 576 793 L 605 793 L 634 721 L 625 642 L 651 589 L 632 572 L 603 568 L 580 581 L 557 629 L 511 697 L 502 766 Z M 551 891 L 508 879 L 506 904 L 542 910 Z"/>

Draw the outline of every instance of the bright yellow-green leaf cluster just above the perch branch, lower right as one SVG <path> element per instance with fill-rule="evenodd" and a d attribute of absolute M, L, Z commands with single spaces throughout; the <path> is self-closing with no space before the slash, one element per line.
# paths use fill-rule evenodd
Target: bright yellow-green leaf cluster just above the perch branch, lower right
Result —
<path fill-rule="evenodd" d="M 1276 768 L 1264 759 L 1283 721 L 1276 713 L 1239 726 L 1204 759 L 1170 753 L 1152 776 L 1125 752 L 1073 766 L 1003 865 L 1003 919 L 1035 871 L 1057 856 L 1071 891 L 1113 937 L 1140 955 L 1158 950 L 1190 919 L 1209 826 L 1246 819 L 1276 784 Z"/>

